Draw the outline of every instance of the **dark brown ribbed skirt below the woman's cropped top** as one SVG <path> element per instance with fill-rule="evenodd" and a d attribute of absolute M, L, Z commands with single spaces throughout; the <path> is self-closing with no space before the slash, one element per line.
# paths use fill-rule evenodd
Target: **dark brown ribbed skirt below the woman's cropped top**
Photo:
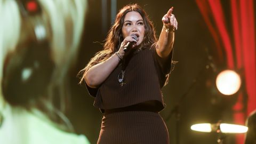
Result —
<path fill-rule="evenodd" d="M 168 144 L 169 133 L 158 113 L 124 111 L 104 115 L 98 144 Z"/>

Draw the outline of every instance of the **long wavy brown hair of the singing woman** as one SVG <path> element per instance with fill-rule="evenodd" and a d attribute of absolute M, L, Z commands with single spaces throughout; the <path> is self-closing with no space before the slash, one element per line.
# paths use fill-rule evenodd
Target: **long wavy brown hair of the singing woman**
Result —
<path fill-rule="evenodd" d="M 114 25 L 108 31 L 107 38 L 105 39 L 105 44 L 103 45 L 103 50 L 97 52 L 94 57 L 89 61 L 87 66 L 82 69 L 79 74 L 83 74 L 80 83 L 83 82 L 85 73 L 92 66 L 97 65 L 100 62 L 107 60 L 111 55 L 119 50 L 121 43 L 124 40 L 122 34 L 122 27 L 124 25 L 124 18 L 128 12 L 135 11 L 138 12 L 144 22 L 145 36 L 140 44 L 141 47 L 149 47 L 157 42 L 156 32 L 153 22 L 149 19 L 147 13 L 138 4 L 129 4 L 124 6 L 116 15 L 116 20 Z"/>

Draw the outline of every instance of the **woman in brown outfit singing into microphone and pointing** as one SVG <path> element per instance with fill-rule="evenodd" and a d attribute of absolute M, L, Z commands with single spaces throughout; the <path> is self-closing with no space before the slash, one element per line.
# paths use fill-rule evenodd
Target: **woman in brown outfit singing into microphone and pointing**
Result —
<path fill-rule="evenodd" d="M 159 111 L 165 105 L 162 87 L 172 68 L 178 26 L 172 11 L 164 15 L 157 40 L 146 12 L 138 4 L 124 6 L 103 50 L 81 71 L 81 82 L 103 113 L 98 143 L 169 143 Z"/>

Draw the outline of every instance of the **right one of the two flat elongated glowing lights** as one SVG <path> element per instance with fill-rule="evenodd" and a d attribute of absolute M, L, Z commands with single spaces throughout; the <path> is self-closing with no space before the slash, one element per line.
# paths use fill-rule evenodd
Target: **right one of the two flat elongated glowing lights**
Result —
<path fill-rule="evenodd" d="M 222 133 L 245 133 L 248 130 L 247 126 L 236 124 L 220 124 L 220 130 Z"/>

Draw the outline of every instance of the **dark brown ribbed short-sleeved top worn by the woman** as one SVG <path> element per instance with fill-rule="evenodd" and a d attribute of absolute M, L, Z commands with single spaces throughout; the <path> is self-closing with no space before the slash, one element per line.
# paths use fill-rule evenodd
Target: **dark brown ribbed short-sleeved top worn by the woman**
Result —
<path fill-rule="evenodd" d="M 90 95 L 95 97 L 94 106 L 100 109 L 114 109 L 146 101 L 156 101 L 157 109 L 164 108 L 162 87 L 166 75 L 171 71 L 172 52 L 166 61 L 158 57 L 155 48 L 139 51 L 125 68 L 124 85 L 118 82 L 122 66 L 118 65 L 98 89 L 87 85 Z"/>

